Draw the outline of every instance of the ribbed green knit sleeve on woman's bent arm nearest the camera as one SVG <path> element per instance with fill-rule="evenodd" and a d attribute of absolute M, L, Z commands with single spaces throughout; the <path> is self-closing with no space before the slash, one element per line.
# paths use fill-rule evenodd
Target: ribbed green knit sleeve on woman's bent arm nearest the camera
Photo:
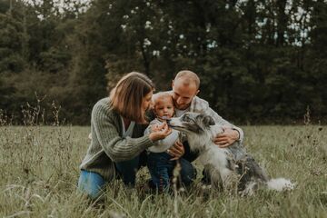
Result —
<path fill-rule="evenodd" d="M 91 123 L 92 135 L 95 135 L 104 153 L 114 162 L 130 160 L 153 145 L 148 134 L 139 138 L 121 137 L 118 126 L 114 124 L 114 115 L 109 112 L 107 105 L 94 105 Z"/>

